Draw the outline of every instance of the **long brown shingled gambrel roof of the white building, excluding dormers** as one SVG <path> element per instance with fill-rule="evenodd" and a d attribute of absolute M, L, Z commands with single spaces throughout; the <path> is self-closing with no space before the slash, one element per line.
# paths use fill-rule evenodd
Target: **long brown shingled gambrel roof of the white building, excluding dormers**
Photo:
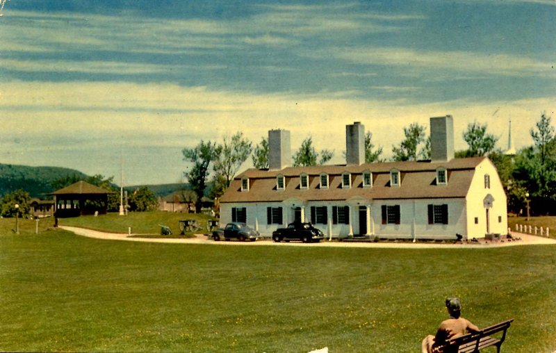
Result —
<path fill-rule="evenodd" d="M 250 169 L 234 178 L 220 202 L 283 202 L 341 201 L 354 197 L 364 199 L 427 199 L 466 197 L 475 167 L 485 157 L 457 158 L 448 162 L 391 162 L 363 165 L 321 165 L 316 167 L 286 167 L 283 170 Z M 436 185 L 436 170 L 448 170 L 448 184 Z M 400 186 L 390 186 L 390 171 L 400 172 Z M 373 173 L 373 187 L 363 188 L 363 172 Z M 352 173 L 350 188 L 342 188 L 343 172 Z M 300 188 L 300 175 L 309 175 L 309 188 Z M 329 175 L 329 188 L 320 189 L 319 175 Z M 286 188 L 276 190 L 277 175 L 286 177 Z M 249 191 L 241 191 L 241 179 L 250 179 Z"/>

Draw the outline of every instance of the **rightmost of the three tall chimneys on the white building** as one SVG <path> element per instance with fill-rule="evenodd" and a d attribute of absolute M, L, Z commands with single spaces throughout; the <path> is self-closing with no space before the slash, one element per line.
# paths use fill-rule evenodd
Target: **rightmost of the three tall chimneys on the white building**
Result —
<path fill-rule="evenodd" d="M 430 118 L 430 157 L 432 162 L 454 158 L 454 118 L 452 115 Z"/>

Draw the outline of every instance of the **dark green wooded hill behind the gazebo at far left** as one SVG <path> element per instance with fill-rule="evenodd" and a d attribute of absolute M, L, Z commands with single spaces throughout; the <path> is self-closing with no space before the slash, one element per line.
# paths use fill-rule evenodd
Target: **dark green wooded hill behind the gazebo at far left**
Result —
<path fill-rule="evenodd" d="M 88 177 L 79 170 L 63 167 L 29 167 L 0 163 L 0 196 L 22 189 L 31 197 L 44 199 L 49 192 L 55 191 L 52 188 L 53 181 L 73 176 L 82 179 Z"/>

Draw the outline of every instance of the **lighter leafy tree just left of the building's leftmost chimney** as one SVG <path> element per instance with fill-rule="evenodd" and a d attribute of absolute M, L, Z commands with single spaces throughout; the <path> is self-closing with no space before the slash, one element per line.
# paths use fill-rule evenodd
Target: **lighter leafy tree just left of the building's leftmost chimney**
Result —
<path fill-rule="evenodd" d="M 252 151 L 251 145 L 251 141 L 243 138 L 243 133 L 238 131 L 231 138 L 224 137 L 222 144 L 215 147 L 213 161 L 215 197 L 220 197 L 230 186 L 241 165 L 249 158 Z"/>

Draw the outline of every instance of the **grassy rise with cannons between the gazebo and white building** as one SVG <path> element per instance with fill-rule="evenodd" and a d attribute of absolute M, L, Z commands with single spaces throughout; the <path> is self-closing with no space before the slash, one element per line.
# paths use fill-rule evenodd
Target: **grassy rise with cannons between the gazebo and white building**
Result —
<path fill-rule="evenodd" d="M 118 213 L 108 213 L 98 217 L 88 215 L 82 217 L 60 218 L 59 223 L 65 226 L 84 227 L 95 229 L 98 231 L 110 231 L 113 233 L 127 233 L 131 227 L 132 233 L 140 234 L 160 234 L 161 227 L 164 224 L 172 229 L 174 238 L 180 238 L 179 229 L 180 220 L 197 220 L 202 229 L 197 233 L 206 233 L 206 215 L 197 215 L 191 213 L 173 213 L 173 212 L 130 212 L 128 215 L 122 216 Z M 54 222 L 52 220 L 51 222 Z M 164 238 L 172 238 L 164 236 Z"/>

